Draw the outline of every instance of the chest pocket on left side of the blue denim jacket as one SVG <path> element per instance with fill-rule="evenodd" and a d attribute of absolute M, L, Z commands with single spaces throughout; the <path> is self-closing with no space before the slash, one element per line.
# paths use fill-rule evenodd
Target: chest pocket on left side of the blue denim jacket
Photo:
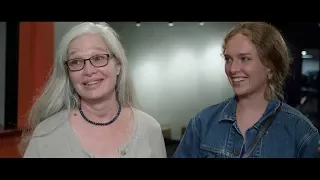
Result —
<path fill-rule="evenodd" d="M 226 149 L 218 149 L 208 145 L 200 145 L 199 158 L 233 158 L 234 155 Z"/>

